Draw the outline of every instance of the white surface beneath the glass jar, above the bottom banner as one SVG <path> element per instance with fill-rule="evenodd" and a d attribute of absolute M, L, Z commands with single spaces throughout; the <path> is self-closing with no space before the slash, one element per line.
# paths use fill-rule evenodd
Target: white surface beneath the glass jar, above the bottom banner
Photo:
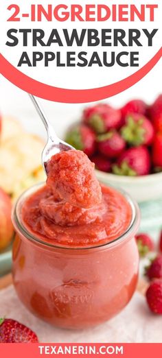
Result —
<path fill-rule="evenodd" d="M 162 317 L 153 315 L 145 298 L 138 293 L 115 318 L 93 329 L 82 331 L 57 329 L 34 317 L 23 307 L 13 286 L 0 292 L 0 315 L 30 326 L 40 342 L 162 343 Z"/>

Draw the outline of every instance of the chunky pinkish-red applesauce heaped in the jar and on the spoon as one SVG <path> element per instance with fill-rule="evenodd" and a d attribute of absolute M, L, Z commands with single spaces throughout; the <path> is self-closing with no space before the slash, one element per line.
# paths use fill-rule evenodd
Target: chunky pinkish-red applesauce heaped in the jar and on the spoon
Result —
<path fill-rule="evenodd" d="M 100 186 L 94 164 L 83 152 L 56 154 L 47 172 L 47 185 L 23 204 L 27 230 L 68 247 L 106 243 L 126 231 L 130 204 L 115 189 Z"/>

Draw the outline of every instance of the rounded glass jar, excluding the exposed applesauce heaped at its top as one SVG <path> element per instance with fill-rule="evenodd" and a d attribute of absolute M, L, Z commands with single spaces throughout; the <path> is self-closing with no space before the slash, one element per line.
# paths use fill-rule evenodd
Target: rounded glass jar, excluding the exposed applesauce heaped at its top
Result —
<path fill-rule="evenodd" d="M 13 280 L 21 302 L 62 328 L 81 329 L 109 320 L 126 307 L 137 285 L 137 204 L 124 193 L 132 220 L 114 241 L 91 248 L 62 248 L 41 241 L 21 222 L 23 202 L 37 189 L 40 185 L 23 193 L 13 213 Z"/>

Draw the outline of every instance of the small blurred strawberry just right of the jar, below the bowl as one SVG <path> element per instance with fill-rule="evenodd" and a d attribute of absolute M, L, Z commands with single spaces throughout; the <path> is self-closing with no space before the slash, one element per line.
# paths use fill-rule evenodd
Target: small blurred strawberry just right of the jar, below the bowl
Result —
<path fill-rule="evenodd" d="M 135 235 L 135 239 L 139 249 L 139 256 L 146 256 L 148 252 L 154 250 L 154 243 L 148 234 L 141 232 L 140 234 Z"/>

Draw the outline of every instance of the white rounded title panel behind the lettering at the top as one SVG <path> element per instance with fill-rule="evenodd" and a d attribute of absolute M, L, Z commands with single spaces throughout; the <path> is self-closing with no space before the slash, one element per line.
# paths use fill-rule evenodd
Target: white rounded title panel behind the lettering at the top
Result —
<path fill-rule="evenodd" d="M 36 0 L 16 0 L 13 1 L 14 3 L 20 5 L 21 7 L 21 13 L 22 12 L 29 12 L 30 4 L 31 3 L 40 3 L 47 6 L 47 3 L 53 3 L 53 5 L 57 5 L 60 3 L 59 0 L 55 1 L 47 1 L 47 0 L 40 0 L 39 2 Z M 100 86 L 105 86 L 108 84 L 111 84 L 113 82 L 117 82 L 119 80 L 122 80 L 123 78 L 127 77 L 128 75 L 134 73 L 137 71 L 140 67 L 142 67 L 148 60 L 150 60 L 154 54 L 159 50 L 161 47 L 161 8 L 162 8 L 162 1 L 161 0 L 102 0 L 100 3 L 103 3 L 105 5 L 109 5 L 111 8 L 112 4 L 126 4 L 129 5 L 130 3 L 133 3 L 137 5 L 137 8 L 140 8 L 141 3 L 142 4 L 158 4 L 159 10 L 155 10 L 155 21 L 154 22 L 141 22 L 137 19 L 135 23 L 130 22 L 114 22 L 111 21 L 105 21 L 101 23 L 96 22 L 79 22 L 76 21 L 75 23 L 70 21 L 65 22 L 38 22 L 38 23 L 30 23 L 29 19 L 24 19 L 20 22 L 7 22 L 8 16 L 10 16 L 13 12 L 10 12 L 7 10 L 8 5 L 12 3 L 12 0 L 1 0 L 0 1 L 0 14 L 1 14 L 1 52 L 5 58 L 14 64 L 16 67 L 19 58 L 21 57 L 21 53 L 23 51 L 27 51 L 29 53 L 30 58 L 32 56 L 32 51 L 61 51 L 63 54 L 63 57 L 65 58 L 65 53 L 67 51 L 89 51 L 89 53 L 93 51 L 97 51 L 99 55 L 102 57 L 103 51 L 108 51 L 110 53 L 111 51 L 116 51 L 119 53 L 120 51 L 139 51 L 139 67 L 120 67 L 119 65 L 115 65 L 114 67 L 98 67 L 97 64 L 93 65 L 93 67 L 56 67 L 55 62 L 51 62 L 49 67 L 44 67 L 44 62 L 38 62 L 37 67 L 27 67 L 27 65 L 23 65 L 23 67 L 19 67 L 19 70 L 25 73 L 26 75 L 30 75 L 30 77 L 33 77 L 36 80 L 39 80 L 40 82 L 44 82 L 46 84 L 51 84 L 53 86 L 58 86 L 62 88 L 95 88 Z M 72 3 L 79 3 L 84 6 L 85 4 L 98 4 L 98 0 L 64 0 L 62 3 L 65 3 L 67 5 L 71 5 Z M 146 15 L 148 12 L 146 11 Z M 146 16 L 146 20 L 148 20 L 148 16 Z M 152 29 L 159 28 L 159 32 L 154 36 L 153 39 L 153 47 L 148 47 L 147 43 L 148 40 L 145 35 L 143 35 L 139 40 L 141 40 L 141 43 L 143 44 L 143 47 L 137 47 L 137 45 L 134 45 L 133 47 L 122 47 L 122 45 L 119 45 L 119 47 L 86 47 L 86 41 L 84 43 L 84 46 L 76 47 L 73 45 L 73 47 L 67 47 L 65 45 L 64 41 L 64 47 L 59 47 L 58 45 L 54 45 L 51 47 L 41 47 L 38 45 L 37 47 L 32 47 L 32 39 L 30 37 L 29 46 L 23 47 L 22 46 L 22 34 L 18 35 L 20 39 L 19 45 L 16 47 L 8 47 L 5 45 L 7 38 L 7 31 L 10 28 L 42 28 L 45 31 L 45 39 L 47 41 L 47 38 L 51 32 L 52 28 L 58 29 L 58 32 L 60 33 L 60 36 L 62 34 L 62 28 L 68 28 L 69 33 L 71 34 L 71 29 L 77 28 L 78 33 L 80 34 L 80 30 L 82 28 L 97 28 L 99 31 L 101 28 L 108 28 L 108 29 L 119 29 L 124 28 L 126 30 L 126 41 L 128 40 L 128 28 L 137 28 L 137 29 L 148 29 L 150 32 L 152 32 Z M 47 36 L 48 35 L 48 36 Z M 62 38 L 62 37 L 61 37 Z M 90 56 L 89 56 L 90 57 Z"/>

